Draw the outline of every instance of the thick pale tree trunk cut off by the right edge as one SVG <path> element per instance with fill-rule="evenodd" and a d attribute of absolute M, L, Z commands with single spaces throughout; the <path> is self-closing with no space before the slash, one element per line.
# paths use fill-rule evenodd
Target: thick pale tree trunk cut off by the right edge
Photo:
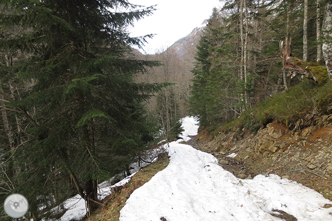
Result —
<path fill-rule="evenodd" d="M 329 77 L 332 80 L 332 3 L 328 3 L 325 24 L 324 24 L 324 44 L 322 47 L 325 64 L 328 68 Z"/>

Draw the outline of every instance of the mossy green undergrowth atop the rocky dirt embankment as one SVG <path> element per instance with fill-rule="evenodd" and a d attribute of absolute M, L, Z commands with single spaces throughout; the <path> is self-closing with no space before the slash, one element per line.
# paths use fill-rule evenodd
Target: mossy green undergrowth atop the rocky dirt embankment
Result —
<path fill-rule="evenodd" d="M 332 82 L 315 84 L 304 79 L 287 92 L 281 92 L 248 109 L 237 119 L 225 122 L 221 129 L 226 132 L 237 128 L 248 128 L 252 132 L 265 127 L 272 120 L 278 120 L 289 128 L 295 128 L 299 120 L 309 121 L 310 116 L 332 113 Z M 308 117 L 309 116 L 309 117 Z M 310 124 L 306 122 L 303 124 Z"/>

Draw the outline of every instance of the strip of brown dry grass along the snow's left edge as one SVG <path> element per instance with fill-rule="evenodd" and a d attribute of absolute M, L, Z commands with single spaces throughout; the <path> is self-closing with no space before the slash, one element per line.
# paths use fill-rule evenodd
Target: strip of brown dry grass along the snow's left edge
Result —
<path fill-rule="evenodd" d="M 143 186 L 156 173 L 165 169 L 168 162 L 167 154 L 161 154 L 155 163 L 150 164 L 135 174 L 128 184 L 122 188 L 113 190 L 113 193 L 107 197 L 104 205 L 88 221 L 118 221 L 120 210 L 125 206 L 127 199 L 134 190 Z"/>

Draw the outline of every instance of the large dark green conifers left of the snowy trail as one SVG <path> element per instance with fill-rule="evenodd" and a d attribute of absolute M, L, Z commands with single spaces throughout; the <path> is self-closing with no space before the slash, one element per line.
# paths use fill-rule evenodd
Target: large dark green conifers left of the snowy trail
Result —
<path fill-rule="evenodd" d="M 123 171 L 154 137 L 141 103 L 162 85 L 134 83 L 133 75 L 159 63 L 129 58 L 130 45 L 151 36 L 125 31 L 153 8 L 136 10 L 128 0 L 0 5 L 2 61 L 14 58 L 1 65 L 1 86 L 7 94 L 17 86 L 6 105 L 24 128 L 3 159 L 13 164 L 8 179 L 27 197 L 34 220 L 44 216 L 41 206 L 47 210 L 73 190 L 92 209 L 98 182 Z M 116 7 L 129 12 L 112 12 Z"/>

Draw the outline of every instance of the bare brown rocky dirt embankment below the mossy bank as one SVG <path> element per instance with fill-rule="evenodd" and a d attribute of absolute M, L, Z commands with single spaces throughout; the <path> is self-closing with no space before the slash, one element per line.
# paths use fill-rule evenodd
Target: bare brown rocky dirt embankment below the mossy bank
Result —
<path fill-rule="evenodd" d="M 273 121 L 256 134 L 238 129 L 211 137 L 199 129 L 189 144 L 213 154 L 235 176 L 252 179 L 277 174 L 310 187 L 332 200 L 332 125 L 290 131 Z M 227 157 L 236 153 L 236 157 Z"/>

